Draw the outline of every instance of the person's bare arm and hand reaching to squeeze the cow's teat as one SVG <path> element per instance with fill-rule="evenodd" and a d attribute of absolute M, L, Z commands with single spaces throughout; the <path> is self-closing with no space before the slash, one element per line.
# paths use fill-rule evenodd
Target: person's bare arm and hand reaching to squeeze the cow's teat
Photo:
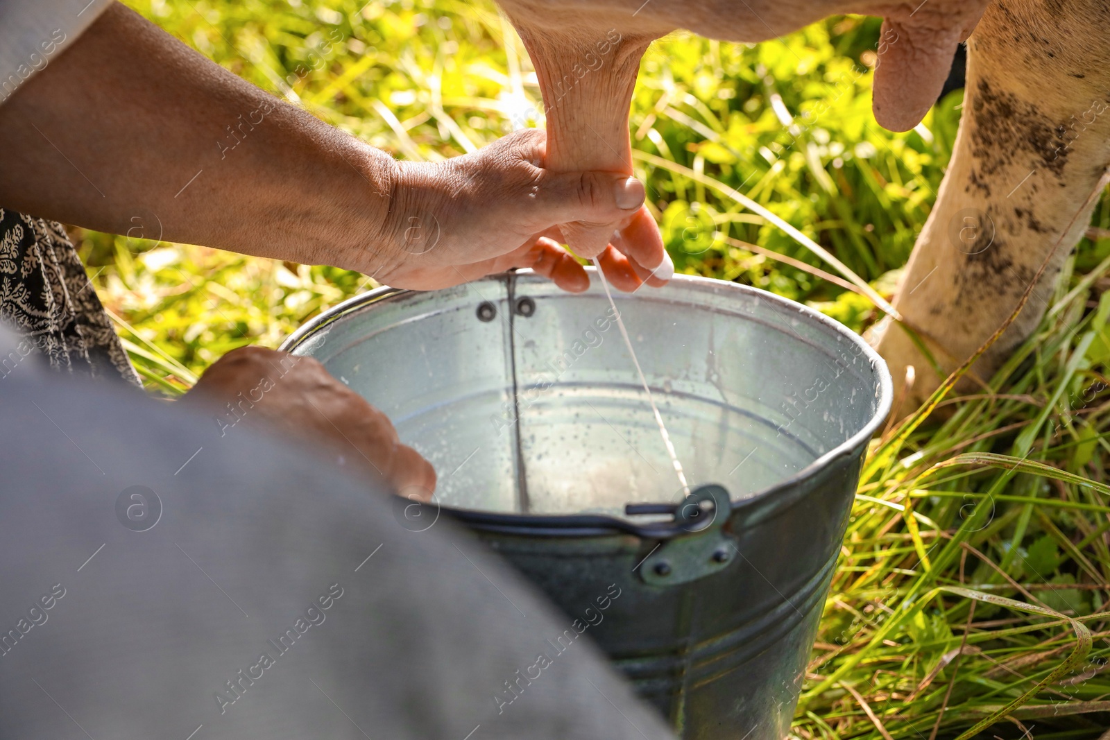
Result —
<path fill-rule="evenodd" d="M 619 173 L 544 170 L 535 131 L 440 164 L 394 161 L 119 3 L 0 105 L 0 206 L 402 287 L 535 266 L 584 288 L 577 263 L 539 236 L 628 223 L 644 196 Z M 654 265 L 662 243 L 643 252 Z M 638 284 L 614 267 L 623 287 Z"/>

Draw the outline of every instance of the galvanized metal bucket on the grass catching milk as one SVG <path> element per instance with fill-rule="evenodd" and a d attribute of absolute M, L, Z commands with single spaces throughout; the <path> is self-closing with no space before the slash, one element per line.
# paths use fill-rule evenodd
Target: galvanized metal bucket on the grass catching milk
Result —
<path fill-rule="evenodd" d="M 889 373 L 856 334 L 763 291 L 678 275 L 614 294 L 684 497 L 592 278 L 583 294 L 529 272 L 382 288 L 283 348 L 385 412 L 435 465 L 443 511 L 588 622 L 682 737 L 778 740 Z"/>

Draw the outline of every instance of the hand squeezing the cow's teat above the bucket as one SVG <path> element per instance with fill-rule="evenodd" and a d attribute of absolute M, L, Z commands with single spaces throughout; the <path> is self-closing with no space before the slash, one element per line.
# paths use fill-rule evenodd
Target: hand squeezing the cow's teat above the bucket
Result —
<path fill-rule="evenodd" d="M 445 162 L 397 162 L 389 256 L 375 280 L 433 290 L 532 267 L 566 291 L 585 291 L 585 270 L 559 245 L 559 224 L 578 222 L 616 226 L 608 245 L 579 255 L 599 252 L 616 287 L 665 284 L 666 267 L 652 276 L 670 262 L 643 205 L 644 185 L 614 172 L 552 172 L 545 154 L 546 134 L 528 129 Z"/>

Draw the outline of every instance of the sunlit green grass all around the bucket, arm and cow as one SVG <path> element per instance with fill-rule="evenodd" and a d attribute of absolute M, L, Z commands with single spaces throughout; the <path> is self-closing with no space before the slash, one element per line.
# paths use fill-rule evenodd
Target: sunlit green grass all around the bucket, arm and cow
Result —
<path fill-rule="evenodd" d="M 518 39 L 487 2 L 131 4 L 398 156 L 481 146 L 539 100 Z M 798 239 L 725 194 L 751 199 L 889 297 L 936 199 L 962 98 L 941 101 L 912 132 L 879 129 L 867 67 L 877 38 L 877 21 L 839 18 L 756 47 L 683 34 L 653 47 L 630 129 L 679 271 L 774 291 L 857 331 L 879 317 Z M 1106 197 L 1093 223 L 1110 225 Z M 132 359 L 163 395 L 235 346 L 276 346 L 373 284 L 203 247 L 78 239 Z M 1032 728 L 1062 740 L 1110 727 L 1110 405 L 1093 385 L 1108 382 L 1108 254 L 1110 241 L 1084 240 L 1053 311 L 992 394 L 947 401 L 942 424 L 874 443 L 797 737 L 1019 738 Z"/>

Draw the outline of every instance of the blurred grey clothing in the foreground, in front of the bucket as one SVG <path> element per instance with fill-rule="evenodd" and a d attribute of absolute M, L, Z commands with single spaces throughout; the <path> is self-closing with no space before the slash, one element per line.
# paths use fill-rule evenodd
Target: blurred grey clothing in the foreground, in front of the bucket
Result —
<path fill-rule="evenodd" d="M 411 531 L 302 450 L 20 369 L 0 737 L 672 737 L 588 635 L 522 681 L 571 619 L 446 517 Z"/>

